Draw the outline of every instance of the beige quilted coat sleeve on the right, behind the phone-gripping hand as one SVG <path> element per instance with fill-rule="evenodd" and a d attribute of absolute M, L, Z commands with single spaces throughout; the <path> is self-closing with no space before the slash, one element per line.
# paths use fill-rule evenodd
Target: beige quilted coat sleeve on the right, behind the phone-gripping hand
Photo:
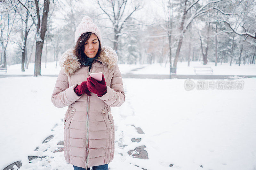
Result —
<path fill-rule="evenodd" d="M 111 79 L 111 87 L 107 85 L 107 93 L 101 97 L 108 106 L 119 107 L 125 101 L 123 80 L 119 67 L 116 65 L 114 75 Z"/>

